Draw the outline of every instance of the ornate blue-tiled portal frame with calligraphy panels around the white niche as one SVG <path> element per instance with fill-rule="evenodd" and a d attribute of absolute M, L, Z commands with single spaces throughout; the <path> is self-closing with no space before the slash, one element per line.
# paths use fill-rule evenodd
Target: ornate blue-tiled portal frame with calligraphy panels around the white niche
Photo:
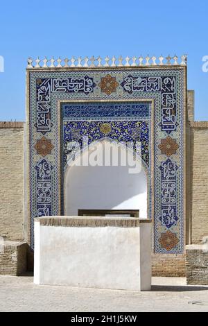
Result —
<path fill-rule="evenodd" d="M 38 65 L 39 66 L 39 65 Z M 63 214 L 69 143 L 141 141 L 157 253 L 184 251 L 186 66 L 33 67 L 28 76 L 31 246 L 37 216 Z"/>

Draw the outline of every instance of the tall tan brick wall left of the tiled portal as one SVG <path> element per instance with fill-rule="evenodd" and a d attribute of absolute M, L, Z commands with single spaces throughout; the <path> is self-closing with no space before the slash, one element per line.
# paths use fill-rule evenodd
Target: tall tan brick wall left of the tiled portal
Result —
<path fill-rule="evenodd" d="M 0 236 L 22 240 L 24 230 L 24 127 L 0 122 Z"/>

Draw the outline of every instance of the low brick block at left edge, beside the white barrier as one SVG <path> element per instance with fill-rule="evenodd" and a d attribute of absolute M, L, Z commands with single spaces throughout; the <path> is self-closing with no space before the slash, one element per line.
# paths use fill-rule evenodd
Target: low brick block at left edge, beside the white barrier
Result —
<path fill-rule="evenodd" d="M 0 275 L 21 275 L 26 271 L 26 243 L 0 244 Z"/>

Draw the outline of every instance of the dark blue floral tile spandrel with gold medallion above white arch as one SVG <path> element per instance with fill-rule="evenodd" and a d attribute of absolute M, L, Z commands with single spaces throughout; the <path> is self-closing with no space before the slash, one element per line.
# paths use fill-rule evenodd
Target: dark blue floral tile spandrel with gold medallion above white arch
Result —
<path fill-rule="evenodd" d="M 83 137 L 87 137 L 89 145 L 105 137 L 125 144 L 128 142 L 134 150 L 137 141 L 140 141 L 141 158 L 145 166 L 149 164 L 148 121 L 64 121 L 64 166 L 67 157 L 70 160 L 70 154 L 73 156 L 74 153 L 74 148 L 69 148 L 69 143 L 77 141 L 80 149 L 83 149 Z"/>

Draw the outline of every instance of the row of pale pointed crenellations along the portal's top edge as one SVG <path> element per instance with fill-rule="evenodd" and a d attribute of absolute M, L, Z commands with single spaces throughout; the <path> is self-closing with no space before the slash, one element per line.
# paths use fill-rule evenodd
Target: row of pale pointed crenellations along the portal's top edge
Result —
<path fill-rule="evenodd" d="M 139 58 L 135 57 L 129 58 L 128 55 L 125 58 L 122 58 L 120 55 L 119 58 L 109 58 L 108 56 L 105 59 L 102 59 L 100 56 L 98 58 L 74 58 L 71 59 L 65 58 L 61 59 L 51 59 L 44 58 L 33 60 L 33 58 L 28 58 L 28 65 L 27 68 L 34 68 L 34 69 L 46 69 L 46 68 L 76 68 L 76 67 L 141 67 L 141 66 L 177 66 L 177 65 L 187 65 L 187 55 L 182 55 L 180 58 L 177 55 L 171 57 L 168 55 L 166 58 L 162 55 L 159 58 L 156 58 L 154 55 L 153 57 L 146 56 L 146 58 L 142 57 L 141 55 Z"/>

